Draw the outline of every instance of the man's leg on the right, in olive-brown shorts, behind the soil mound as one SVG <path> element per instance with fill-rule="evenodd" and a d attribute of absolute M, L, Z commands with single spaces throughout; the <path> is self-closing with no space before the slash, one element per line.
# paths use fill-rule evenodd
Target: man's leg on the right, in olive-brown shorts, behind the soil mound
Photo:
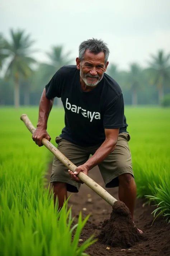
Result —
<path fill-rule="evenodd" d="M 115 150 L 99 164 L 106 188 L 119 187 L 119 200 L 129 208 L 133 219 L 136 201 L 136 184 L 132 170 L 132 158 L 128 141 L 129 134 L 121 133 Z M 141 230 L 139 230 L 141 232 Z"/>

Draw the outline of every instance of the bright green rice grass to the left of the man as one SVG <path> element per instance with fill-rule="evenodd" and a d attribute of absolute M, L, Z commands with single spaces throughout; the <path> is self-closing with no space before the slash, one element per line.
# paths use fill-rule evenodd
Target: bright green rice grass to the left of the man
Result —
<path fill-rule="evenodd" d="M 78 247 L 89 216 L 82 220 L 80 213 L 72 228 L 74 216 L 67 202 L 60 212 L 54 209 L 53 197 L 49 189 L 44 189 L 52 155 L 33 142 L 32 134 L 20 121 L 23 111 L 36 126 L 35 108 L 0 109 L 0 255 L 81 256 L 96 241 L 91 234 Z"/>

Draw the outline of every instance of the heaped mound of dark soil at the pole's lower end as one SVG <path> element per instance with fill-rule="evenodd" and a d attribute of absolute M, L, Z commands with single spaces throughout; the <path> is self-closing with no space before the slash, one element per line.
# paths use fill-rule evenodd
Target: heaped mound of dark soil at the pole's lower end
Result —
<path fill-rule="evenodd" d="M 129 248 L 144 237 L 134 225 L 128 207 L 123 202 L 116 201 L 110 219 L 104 220 L 96 238 L 112 247 Z"/>

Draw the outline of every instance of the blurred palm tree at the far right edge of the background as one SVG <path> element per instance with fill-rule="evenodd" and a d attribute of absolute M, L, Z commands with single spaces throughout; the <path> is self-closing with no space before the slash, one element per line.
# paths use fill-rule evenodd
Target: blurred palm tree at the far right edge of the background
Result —
<path fill-rule="evenodd" d="M 156 55 L 151 55 L 150 67 L 147 68 L 150 84 L 156 85 L 159 91 L 159 104 L 164 98 L 164 87 L 170 85 L 170 53 L 165 54 L 159 50 Z"/>

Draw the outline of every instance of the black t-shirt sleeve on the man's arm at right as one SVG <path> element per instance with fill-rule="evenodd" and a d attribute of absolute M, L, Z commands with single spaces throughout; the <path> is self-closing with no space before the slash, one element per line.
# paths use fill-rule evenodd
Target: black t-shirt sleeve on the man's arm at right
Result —
<path fill-rule="evenodd" d="M 124 127 L 124 100 L 123 94 L 111 101 L 104 112 L 104 129 Z"/>

